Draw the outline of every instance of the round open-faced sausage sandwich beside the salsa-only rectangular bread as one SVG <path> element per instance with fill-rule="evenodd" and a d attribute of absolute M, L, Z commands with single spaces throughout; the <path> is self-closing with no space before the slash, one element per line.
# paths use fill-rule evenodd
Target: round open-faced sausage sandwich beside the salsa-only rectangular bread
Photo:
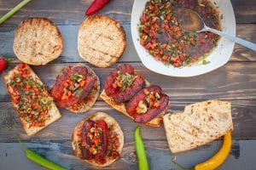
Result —
<path fill-rule="evenodd" d="M 77 64 L 62 69 L 51 89 L 53 98 L 68 111 L 90 110 L 100 93 L 100 81 L 89 66 Z"/>

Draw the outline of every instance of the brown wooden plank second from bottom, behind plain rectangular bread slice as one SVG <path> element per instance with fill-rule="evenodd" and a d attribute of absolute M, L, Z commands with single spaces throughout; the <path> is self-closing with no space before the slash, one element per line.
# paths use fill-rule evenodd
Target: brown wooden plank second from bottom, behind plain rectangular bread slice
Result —
<path fill-rule="evenodd" d="M 201 100 L 174 100 L 171 99 L 171 107 L 167 112 L 183 111 L 185 105 L 189 105 Z M 235 139 L 255 139 L 256 138 L 256 100 L 231 100 L 232 117 L 235 130 L 233 137 Z M 85 116 L 96 111 L 103 111 L 113 116 L 125 133 L 125 142 L 133 140 L 133 129 L 137 123 L 133 122 L 129 117 L 113 110 L 105 102 L 98 101 L 96 105 L 87 113 L 73 114 L 69 111 L 61 109 L 61 119 L 46 127 L 40 133 L 29 137 L 20 125 L 18 116 L 10 102 L 0 102 L 0 142 L 14 142 L 14 133 L 20 134 L 20 139 L 31 140 L 69 140 L 73 133 L 73 128 Z M 154 134 L 154 135 L 152 135 Z M 143 126 L 143 136 L 148 140 L 165 140 L 166 134 L 164 127 L 148 127 Z"/>

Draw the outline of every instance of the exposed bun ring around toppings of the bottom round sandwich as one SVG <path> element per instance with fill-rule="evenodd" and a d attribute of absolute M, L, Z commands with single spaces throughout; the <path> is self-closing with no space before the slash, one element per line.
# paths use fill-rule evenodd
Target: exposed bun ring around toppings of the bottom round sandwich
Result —
<path fill-rule="evenodd" d="M 96 112 L 90 116 L 87 116 L 85 117 L 81 122 L 79 122 L 79 124 L 74 128 L 73 130 L 73 135 L 72 135 L 72 146 L 73 146 L 73 151 L 74 151 L 74 155 L 75 156 L 80 156 L 82 153 L 81 153 L 81 150 L 79 149 L 79 142 L 78 142 L 78 136 L 76 135 L 79 130 L 82 128 L 83 124 L 85 121 L 87 120 L 91 120 L 91 121 L 105 121 L 107 122 L 108 124 L 108 127 L 109 126 L 113 126 L 113 131 L 115 133 L 117 133 L 117 136 L 119 137 L 119 147 L 117 148 L 117 151 L 119 152 L 119 155 L 121 155 L 121 151 L 123 149 L 123 146 L 124 146 L 124 133 L 121 129 L 121 127 L 119 126 L 119 123 L 116 122 L 112 116 L 109 116 L 108 114 L 106 113 L 103 113 L 103 112 Z M 92 161 L 89 161 L 89 160 L 83 160 L 87 163 L 90 163 L 91 165 L 94 165 L 94 166 L 97 166 L 97 167 L 107 167 L 109 166 L 110 164 L 112 164 L 114 161 L 116 161 L 119 157 L 117 157 L 116 159 L 113 159 L 113 160 L 110 160 L 108 157 L 107 157 L 107 162 L 104 163 L 104 164 L 99 164 L 97 163 L 96 161 L 92 160 Z"/>

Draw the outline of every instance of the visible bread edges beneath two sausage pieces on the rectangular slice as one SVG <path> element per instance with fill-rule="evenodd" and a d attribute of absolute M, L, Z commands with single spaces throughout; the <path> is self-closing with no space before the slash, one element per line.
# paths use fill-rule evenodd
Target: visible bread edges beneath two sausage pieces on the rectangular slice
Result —
<path fill-rule="evenodd" d="M 146 86 L 147 87 L 150 86 L 150 83 L 148 81 L 146 81 Z M 104 89 L 102 91 L 102 94 L 100 95 L 100 98 L 102 98 L 108 105 L 112 106 L 113 109 L 115 109 L 116 111 L 119 111 L 119 112 L 123 113 L 125 116 L 129 116 L 132 120 L 134 120 L 134 118 L 126 112 L 125 104 L 124 103 L 121 103 L 121 104 L 115 103 L 113 101 L 113 99 L 106 94 Z M 162 111 L 159 116 L 156 116 L 154 119 L 152 119 L 151 121 L 146 122 L 144 124 L 151 126 L 151 127 L 160 127 L 161 121 L 163 120 L 163 116 L 166 114 L 168 107 L 169 107 L 169 104 L 166 106 L 165 111 Z"/>

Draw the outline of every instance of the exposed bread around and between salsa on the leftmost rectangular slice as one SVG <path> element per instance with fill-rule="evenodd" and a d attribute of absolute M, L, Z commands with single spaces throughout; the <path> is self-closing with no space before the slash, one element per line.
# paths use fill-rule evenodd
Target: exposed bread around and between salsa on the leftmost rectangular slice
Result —
<path fill-rule="evenodd" d="M 43 84 L 43 82 L 41 82 L 39 77 L 34 73 L 34 71 L 32 71 L 32 69 L 26 64 L 16 65 L 14 69 L 9 71 L 4 76 L 4 81 L 5 81 L 7 90 L 9 92 L 10 99 L 12 100 L 12 103 L 15 107 L 15 111 L 17 111 L 17 113 L 19 115 L 21 126 L 26 131 L 26 134 L 30 136 L 32 134 L 38 133 L 44 127 L 47 127 L 50 123 L 55 122 L 56 120 L 61 118 L 61 113 L 58 111 L 57 107 L 55 106 L 55 103 L 54 103 L 53 99 L 49 96 L 46 88 L 44 88 L 44 90 L 42 91 L 44 93 L 44 97 L 45 97 L 44 102 L 49 102 L 49 105 L 50 105 L 50 109 L 49 109 L 49 112 L 48 112 L 49 117 L 44 122 L 44 126 L 39 126 L 39 127 L 32 126 L 32 123 L 27 121 L 27 117 L 22 116 L 22 114 L 20 114 L 20 107 L 22 107 L 23 105 L 20 105 L 20 103 L 17 103 L 17 100 L 15 98 L 17 95 L 15 94 L 16 93 L 15 89 L 12 86 L 12 84 L 15 83 L 15 82 L 13 82 L 12 79 L 13 79 L 15 74 L 16 75 L 19 74 L 19 72 L 20 72 L 19 67 L 21 65 L 23 65 L 23 67 L 29 71 L 29 74 L 26 75 L 27 77 L 31 77 L 33 81 L 38 82 L 38 84 L 40 84 L 43 87 L 44 87 L 44 84 Z M 15 81 L 20 82 L 20 81 L 24 81 L 24 79 L 23 78 L 21 78 L 21 79 L 16 78 Z M 37 86 L 38 86 L 38 84 L 37 84 Z M 34 93 L 37 95 L 37 91 L 35 91 Z M 22 95 L 24 95 L 24 94 L 22 94 Z M 40 106 L 42 106 L 42 105 L 40 105 Z M 31 107 L 28 107 L 28 109 L 31 110 Z M 32 115 L 31 113 L 28 113 L 28 114 Z M 33 115 L 36 115 L 36 114 L 38 114 L 38 113 L 34 113 Z M 40 116 L 40 114 L 39 114 L 39 116 Z"/>

